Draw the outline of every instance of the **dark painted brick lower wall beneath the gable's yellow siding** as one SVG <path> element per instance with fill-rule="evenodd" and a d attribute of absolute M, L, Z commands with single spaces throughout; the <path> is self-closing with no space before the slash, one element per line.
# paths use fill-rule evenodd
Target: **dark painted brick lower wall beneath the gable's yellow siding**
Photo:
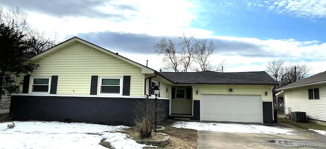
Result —
<path fill-rule="evenodd" d="M 14 120 L 85 122 L 132 126 L 134 103 L 144 99 L 99 97 L 12 96 L 10 116 Z M 162 120 L 169 115 L 169 100 Z"/>

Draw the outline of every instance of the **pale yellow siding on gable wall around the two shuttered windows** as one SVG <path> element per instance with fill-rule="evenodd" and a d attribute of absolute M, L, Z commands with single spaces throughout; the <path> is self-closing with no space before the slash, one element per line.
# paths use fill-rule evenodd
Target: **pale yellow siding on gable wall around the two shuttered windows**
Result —
<path fill-rule="evenodd" d="M 32 73 L 32 76 L 58 75 L 57 94 L 90 95 L 92 75 L 99 77 L 130 75 L 130 96 L 144 95 L 145 76 L 141 73 L 141 68 L 83 43 L 76 42 L 34 63 L 40 64 L 40 67 Z M 22 78 L 20 77 L 20 80 Z"/>

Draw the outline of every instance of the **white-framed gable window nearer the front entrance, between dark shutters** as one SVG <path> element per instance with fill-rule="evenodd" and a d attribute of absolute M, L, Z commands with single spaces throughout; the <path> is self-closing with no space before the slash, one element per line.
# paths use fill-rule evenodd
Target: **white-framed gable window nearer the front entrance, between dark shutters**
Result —
<path fill-rule="evenodd" d="M 100 94 L 121 95 L 121 78 L 101 78 Z"/>

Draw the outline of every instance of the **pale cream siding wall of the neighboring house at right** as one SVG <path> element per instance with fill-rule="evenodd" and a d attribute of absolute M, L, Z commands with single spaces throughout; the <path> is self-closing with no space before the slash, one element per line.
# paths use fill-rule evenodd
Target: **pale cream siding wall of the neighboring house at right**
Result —
<path fill-rule="evenodd" d="M 309 100 L 308 89 L 319 88 L 319 100 Z M 285 112 L 306 112 L 307 117 L 326 121 L 326 85 L 301 87 L 284 91 Z"/>

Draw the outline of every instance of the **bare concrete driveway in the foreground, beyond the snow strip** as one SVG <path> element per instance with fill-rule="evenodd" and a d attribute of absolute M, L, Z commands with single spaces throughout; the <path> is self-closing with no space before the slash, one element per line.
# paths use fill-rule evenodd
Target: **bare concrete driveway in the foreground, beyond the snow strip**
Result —
<path fill-rule="evenodd" d="M 326 148 L 324 135 L 286 124 L 272 126 L 293 130 L 293 135 L 199 131 L 198 148 Z"/>

